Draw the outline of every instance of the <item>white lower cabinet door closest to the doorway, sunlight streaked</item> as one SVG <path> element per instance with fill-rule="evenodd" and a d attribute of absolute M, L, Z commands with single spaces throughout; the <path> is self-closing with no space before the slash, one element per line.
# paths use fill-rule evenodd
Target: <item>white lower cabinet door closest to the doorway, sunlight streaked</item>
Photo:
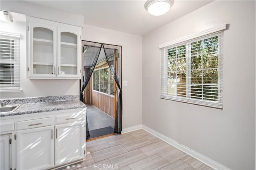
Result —
<path fill-rule="evenodd" d="M 55 166 L 82 159 L 84 152 L 84 121 L 55 125 Z"/>

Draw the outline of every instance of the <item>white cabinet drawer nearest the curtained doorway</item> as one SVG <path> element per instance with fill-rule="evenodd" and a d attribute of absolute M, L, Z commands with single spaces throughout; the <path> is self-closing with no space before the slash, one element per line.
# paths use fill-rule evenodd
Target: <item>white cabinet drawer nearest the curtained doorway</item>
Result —
<path fill-rule="evenodd" d="M 56 124 L 66 123 L 70 121 L 85 120 L 85 111 L 66 113 L 56 116 Z"/>

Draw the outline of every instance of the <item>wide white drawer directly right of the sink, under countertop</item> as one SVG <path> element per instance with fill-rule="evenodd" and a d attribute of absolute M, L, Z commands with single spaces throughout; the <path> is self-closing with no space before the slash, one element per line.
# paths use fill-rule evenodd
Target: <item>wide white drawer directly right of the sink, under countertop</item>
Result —
<path fill-rule="evenodd" d="M 17 130 L 30 129 L 35 127 L 43 127 L 53 125 L 52 117 L 46 117 L 42 119 L 32 119 L 26 121 L 17 121 L 16 122 Z"/>

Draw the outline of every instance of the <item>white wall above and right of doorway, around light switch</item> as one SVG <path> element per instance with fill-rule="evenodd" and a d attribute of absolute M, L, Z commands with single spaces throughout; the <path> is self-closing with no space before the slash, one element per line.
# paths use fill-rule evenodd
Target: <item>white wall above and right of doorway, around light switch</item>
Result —
<path fill-rule="evenodd" d="M 110 29 L 84 25 L 82 40 L 122 45 L 122 127 L 142 124 L 142 37 Z"/>

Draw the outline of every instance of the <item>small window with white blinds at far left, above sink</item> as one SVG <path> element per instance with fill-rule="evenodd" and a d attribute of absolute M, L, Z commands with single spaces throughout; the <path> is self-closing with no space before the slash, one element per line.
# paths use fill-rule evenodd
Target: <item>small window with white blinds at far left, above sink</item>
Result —
<path fill-rule="evenodd" d="M 0 32 L 0 90 L 20 90 L 20 34 Z"/>

